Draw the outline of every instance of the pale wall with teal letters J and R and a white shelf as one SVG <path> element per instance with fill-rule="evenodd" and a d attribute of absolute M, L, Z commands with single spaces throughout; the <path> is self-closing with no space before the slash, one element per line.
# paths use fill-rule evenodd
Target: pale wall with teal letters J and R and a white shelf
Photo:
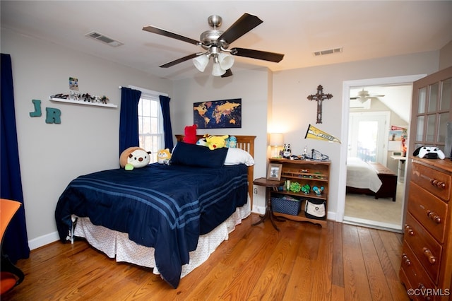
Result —
<path fill-rule="evenodd" d="M 1 52 L 11 54 L 25 218 L 30 248 L 57 239 L 54 210 L 71 179 L 119 167 L 119 85 L 172 94 L 172 82 L 71 49 L 1 30 Z M 117 109 L 50 102 L 69 92 L 107 95 Z M 42 117 L 30 117 L 32 100 Z M 45 108 L 61 110 L 61 124 L 45 123 Z"/>

